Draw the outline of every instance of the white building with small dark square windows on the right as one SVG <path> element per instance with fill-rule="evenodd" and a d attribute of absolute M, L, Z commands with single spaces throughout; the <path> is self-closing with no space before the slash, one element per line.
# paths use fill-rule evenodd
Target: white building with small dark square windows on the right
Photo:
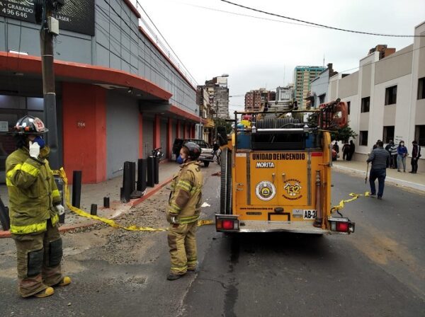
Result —
<path fill-rule="evenodd" d="M 416 26 L 414 34 L 425 35 L 425 22 Z M 356 159 L 365 159 L 378 139 L 384 143 L 392 139 L 397 144 L 404 140 L 409 153 L 416 140 L 425 153 L 424 42 L 424 38 L 414 38 L 412 45 L 383 59 L 373 52 L 360 60 L 355 73 L 331 77 L 329 100 L 348 102 L 349 125 L 358 133 Z M 419 172 L 425 171 L 424 156 Z"/>

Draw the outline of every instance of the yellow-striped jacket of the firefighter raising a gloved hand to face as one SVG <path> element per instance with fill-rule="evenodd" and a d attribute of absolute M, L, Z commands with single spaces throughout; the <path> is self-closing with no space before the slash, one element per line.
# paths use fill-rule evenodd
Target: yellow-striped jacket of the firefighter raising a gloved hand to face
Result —
<path fill-rule="evenodd" d="M 48 154 L 45 146 L 40 157 Z M 57 223 L 53 206 L 60 204 L 61 197 L 47 159 L 31 158 L 26 148 L 14 151 L 6 159 L 6 185 L 12 234 L 46 231 L 47 219 Z"/>

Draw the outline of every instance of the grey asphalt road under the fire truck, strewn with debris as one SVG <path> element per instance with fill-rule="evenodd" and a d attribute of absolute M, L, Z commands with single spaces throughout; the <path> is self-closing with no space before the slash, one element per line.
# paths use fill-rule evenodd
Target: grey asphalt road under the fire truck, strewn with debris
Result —
<path fill-rule="evenodd" d="M 203 169 L 203 197 L 211 205 L 205 217 L 218 209 L 220 178 L 210 175 L 217 170 Z M 333 176 L 335 204 L 368 190 L 361 178 Z M 67 234 L 64 244 L 76 249 L 65 258 L 74 263 L 74 283 L 50 298 L 23 300 L 14 263 L 4 260 L 0 316 L 425 316 L 424 203 L 424 195 L 387 185 L 382 201 L 362 197 L 346 205 L 344 216 L 356 221 L 351 236 L 226 236 L 203 226 L 199 272 L 173 282 L 165 279 L 163 233 L 140 236 L 145 249 L 130 263 L 125 254 L 135 247 L 126 250 L 128 234 L 113 263 L 103 256 L 101 238 L 111 229 L 78 246 L 72 241 L 83 234 Z M 10 240 L 0 240 L 0 254 L 12 259 Z"/>

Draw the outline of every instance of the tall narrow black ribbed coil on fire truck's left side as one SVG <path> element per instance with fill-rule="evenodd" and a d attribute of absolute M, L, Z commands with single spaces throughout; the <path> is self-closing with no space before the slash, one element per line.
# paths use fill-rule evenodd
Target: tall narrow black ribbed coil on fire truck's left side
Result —
<path fill-rule="evenodd" d="M 232 152 L 228 148 L 221 153 L 220 214 L 230 214 L 232 205 Z"/>

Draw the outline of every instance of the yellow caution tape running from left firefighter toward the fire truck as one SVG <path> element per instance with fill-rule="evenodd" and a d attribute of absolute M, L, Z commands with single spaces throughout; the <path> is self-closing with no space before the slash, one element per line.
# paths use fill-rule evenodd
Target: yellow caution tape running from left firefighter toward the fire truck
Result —
<path fill-rule="evenodd" d="M 67 178 L 67 174 L 64 171 L 64 168 L 60 168 L 60 170 L 55 170 L 55 171 L 52 171 L 52 172 L 53 172 L 53 175 L 60 176 L 60 178 L 62 178 L 62 180 L 64 181 L 65 203 L 67 204 L 67 207 L 69 208 L 69 210 L 72 210 L 72 212 L 75 212 L 79 216 L 98 220 L 98 221 L 102 221 L 103 223 L 108 224 L 109 226 L 112 226 L 113 228 L 119 228 L 119 229 L 124 229 L 124 230 L 128 230 L 128 231 L 167 231 L 168 230 L 168 229 L 164 229 L 164 228 L 152 228 L 152 227 L 149 227 L 149 226 L 135 226 L 135 225 L 121 226 L 120 224 L 117 224 L 112 219 L 106 219 L 106 218 L 94 216 L 93 214 L 89 214 L 87 212 L 84 212 L 84 210 L 81 210 L 77 207 L 74 207 L 70 203 L 69 190 L 68 190 L 68 178 Z M 211 220 L 198 220 L 198 226 L 204 226 L 206 224 L 213 224 L 213 223 L 214 222 L 211 221 Z"/>

